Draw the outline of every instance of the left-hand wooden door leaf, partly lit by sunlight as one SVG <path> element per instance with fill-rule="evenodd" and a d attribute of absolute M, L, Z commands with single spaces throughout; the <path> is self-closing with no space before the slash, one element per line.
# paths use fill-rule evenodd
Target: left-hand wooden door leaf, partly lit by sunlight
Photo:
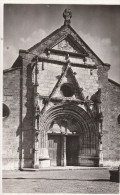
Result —
<path fill-rule="evenodd" d="M 61 136 L 48 135 L 48 151 L 51 166 L 61 165 Z"/>

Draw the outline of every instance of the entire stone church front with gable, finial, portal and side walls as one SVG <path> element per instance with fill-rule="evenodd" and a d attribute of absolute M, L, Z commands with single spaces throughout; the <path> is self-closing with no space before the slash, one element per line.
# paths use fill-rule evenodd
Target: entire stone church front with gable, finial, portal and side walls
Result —
<path fill-rule="evenodd" d="M 3 169 L 120 164 L 120 84 L 63 18 L 4 70 Z"/>

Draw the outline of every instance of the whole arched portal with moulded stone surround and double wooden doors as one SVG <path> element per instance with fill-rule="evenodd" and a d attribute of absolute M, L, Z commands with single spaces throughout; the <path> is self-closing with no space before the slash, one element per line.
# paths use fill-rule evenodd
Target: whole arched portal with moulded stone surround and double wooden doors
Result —
<path fill-rule="evenodd" d="M 40 155 L 48 155 L 51 166 L 98 166 L 98 130 L 84 109 L 73 104 L 51 107 L 40 124 Z"/>

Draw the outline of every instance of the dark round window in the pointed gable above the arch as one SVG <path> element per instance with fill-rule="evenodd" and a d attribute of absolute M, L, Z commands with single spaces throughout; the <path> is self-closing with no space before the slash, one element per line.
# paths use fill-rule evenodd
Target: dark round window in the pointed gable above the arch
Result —
<path fill-rule="evenodd" d="M 60 91 L 65 97 L 72 97 L 74 94 L 74 88 L 71 83 L 62 84 Z"/>

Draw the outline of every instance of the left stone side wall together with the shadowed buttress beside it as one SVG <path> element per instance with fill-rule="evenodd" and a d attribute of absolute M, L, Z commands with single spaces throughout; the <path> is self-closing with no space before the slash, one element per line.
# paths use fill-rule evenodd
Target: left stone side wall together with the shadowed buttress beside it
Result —
<path fill-rule="evenodd" d="M 10 115 L 3 119 L 3 169 L 34 164 L 34 93 L 32 70 L 23 56 L 21 68 L 4 71 L 3 103 Z M 28 56 L 29 59 L 29 56 Z"/>

